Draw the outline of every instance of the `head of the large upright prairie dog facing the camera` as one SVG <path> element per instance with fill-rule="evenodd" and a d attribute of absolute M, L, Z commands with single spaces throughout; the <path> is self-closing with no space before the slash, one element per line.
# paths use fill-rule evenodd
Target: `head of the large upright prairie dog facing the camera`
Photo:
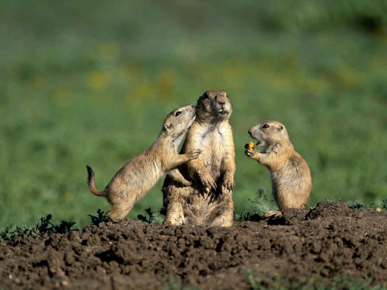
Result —
<path fill-rule="evenodd" d="M 224 90 L 207 90 L 197 101 L 196 116 L 200 121 L 226 121 L 233 106 Z"/>

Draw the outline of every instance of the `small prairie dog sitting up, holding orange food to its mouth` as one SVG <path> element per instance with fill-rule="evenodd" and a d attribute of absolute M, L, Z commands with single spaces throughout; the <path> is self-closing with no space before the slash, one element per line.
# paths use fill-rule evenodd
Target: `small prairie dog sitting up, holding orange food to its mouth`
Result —
<path fill-rule="evenodd" d="M 307 163 L 289 141 L 286 127 L 277 121 L 264 121 L 248 133 L 264 149 L 260 152 L 246 144 L 245 154 L 269 169 L 273 197 L 279 209 L 304 208 L 312 189 L 312 177 Z M 271 214 L 279 215 L 275 211 Z"/>

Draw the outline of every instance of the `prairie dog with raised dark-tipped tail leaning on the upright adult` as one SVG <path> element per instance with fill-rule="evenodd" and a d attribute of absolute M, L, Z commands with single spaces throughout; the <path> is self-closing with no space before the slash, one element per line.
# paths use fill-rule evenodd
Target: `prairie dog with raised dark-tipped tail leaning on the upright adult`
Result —
<path fill-rule="evenodd" d="M 200 149 L 178 154 L 184 134 L 195 120 L 195 108 L 187 105 L 172 111 L 164 119 L 163 128 L 151 148 L 125 164 L 111 179 L 104 191 L 98 191 L 94 185 L 94 172 L 86 165 L 89 174 L 87 184 L 91 193 L 104 196 L 111 204 L 108 217 L 112 222 L 119 222 L 128 214 L 133 205 L 139 201 L 163 176 L 171 173 L 178 183 L 184 186 L 190 183 L 173 169 L 189 160 L 199 157 Z M 172 169 L 172 170 L 171 170 Z"/>

